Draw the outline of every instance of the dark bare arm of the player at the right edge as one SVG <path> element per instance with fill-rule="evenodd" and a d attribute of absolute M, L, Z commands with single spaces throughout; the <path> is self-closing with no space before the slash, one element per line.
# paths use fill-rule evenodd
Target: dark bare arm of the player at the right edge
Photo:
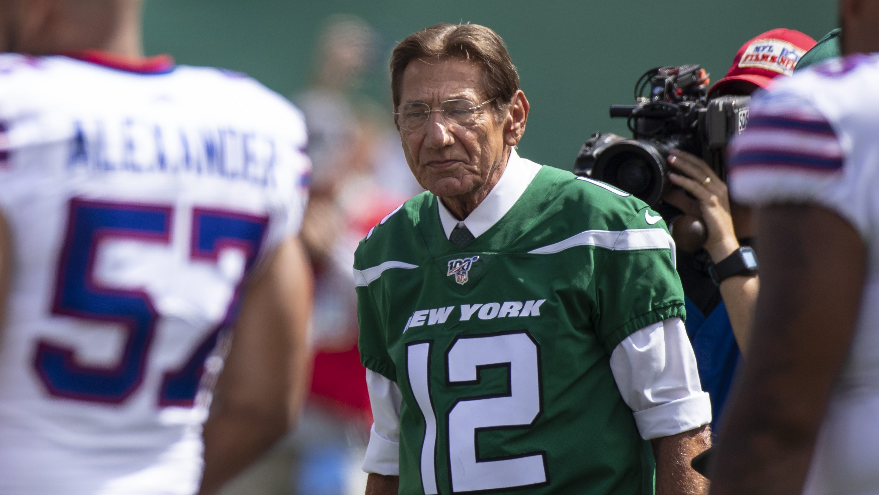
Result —
<path fill-rule="evenodd" d="M 748 359 L 712 461 L 712 495 L 797 495 L 861 305 L 866 248 L 821 207 L 759 210 L 761 287 Z"/>

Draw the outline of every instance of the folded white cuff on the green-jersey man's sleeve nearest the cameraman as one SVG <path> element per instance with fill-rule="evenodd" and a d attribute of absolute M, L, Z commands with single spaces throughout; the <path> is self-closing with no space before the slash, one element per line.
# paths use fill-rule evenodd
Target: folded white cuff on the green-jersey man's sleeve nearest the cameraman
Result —
<path fill-rule="evenodd" d="M 707 392 L 636 411 L 635 423 L 644 440 L 688 432 L 711 422 L 711 401 Z"/>

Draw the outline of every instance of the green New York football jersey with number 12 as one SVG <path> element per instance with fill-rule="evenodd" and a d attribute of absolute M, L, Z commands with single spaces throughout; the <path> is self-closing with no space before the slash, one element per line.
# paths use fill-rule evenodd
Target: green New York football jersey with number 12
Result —
<path fill-rule="evenodd" d="M 399 492 L 653 493 L 609 359 L 685 317 L 665 223 L 548 166 L 464 249 L 437 201 L 407 201 L 354 261 L 361 360 L 403 395 Z"/>

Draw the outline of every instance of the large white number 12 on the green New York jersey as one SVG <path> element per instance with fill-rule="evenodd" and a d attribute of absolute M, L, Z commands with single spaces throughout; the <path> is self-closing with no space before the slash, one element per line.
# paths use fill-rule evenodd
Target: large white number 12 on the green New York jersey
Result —
<path fill-rule="evenodd" d="M 425 419 L 421 482 L 425 495 L 437 489 L 437 418 L 431 389 L 432 341 L 406 347 L 406 371 L 412 394 Z M 527 331 L 456 338 L 446 356 L 446 385 L 480 384 L 483 368 L 508 369 L 509 392 L 463 397 L 448 410 L 446 439 L 452 491 L 491 491 L 548 483 L 546 453 L 529 452 L 481 459 L 479 433 L 533 426 L 542 410 L 540 346 Z"/>

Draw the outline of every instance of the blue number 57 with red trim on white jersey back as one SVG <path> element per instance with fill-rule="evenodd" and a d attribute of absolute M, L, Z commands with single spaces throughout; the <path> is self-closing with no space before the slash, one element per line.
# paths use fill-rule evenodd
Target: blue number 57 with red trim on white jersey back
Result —
<path fill-rule="evenodd" d="M 49 393 L 120 404 L 141 384 L 158 313 L 149 294 L 143 290 L 101 286 L 93 275 L 95 254 L 106 238 L 171 244 L 172 218 L 171 207 L 70 201 L 67 237 L 58 262 L 52 312 L 85 321 L 120 324 L 127 335 L 118 364 L 112 367 L 81 365 L 73 349 L 40 340 L 34 366 Z M 266 223 L 265 217 L 195 209 L 191 256 L 215 262 L 223 247 L 236 247 L 246 253 L 246 267 L 250 268 L 262 244 Z M 165 375 L 159 404 L 193 404 L 205 360 L 214 349 L 218 335 L 235 317 L 237 292 L 222 324 L 196 347 L 183 366 Z"/>

